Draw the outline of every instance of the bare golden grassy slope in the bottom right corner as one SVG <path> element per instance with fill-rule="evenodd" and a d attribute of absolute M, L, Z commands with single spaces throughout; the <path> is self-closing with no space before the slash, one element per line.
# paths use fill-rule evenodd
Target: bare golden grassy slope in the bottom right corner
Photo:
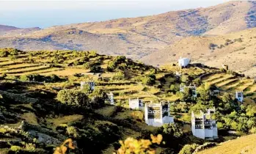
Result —
<path fill-rule="evenodd" d="M 256 134 L 249 136 L 243 136 L 238 139 L 234 139 L 228 142 L 219 144 L 217 147 L 213 147 L 208 150 L 203 150 L 198 154 L 233 154 L 233 153 L 256 153 Z"/>

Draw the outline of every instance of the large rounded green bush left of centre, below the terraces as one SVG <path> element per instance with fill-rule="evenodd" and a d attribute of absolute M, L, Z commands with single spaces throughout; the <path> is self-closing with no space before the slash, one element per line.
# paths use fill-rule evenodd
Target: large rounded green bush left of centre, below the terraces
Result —
<path fill-rule="evenodd" d="M 78 90 L 62 89 L 58 92 L 57 100 L 70 106 L 84 106 L 90 108 L 88 96 Z"/>

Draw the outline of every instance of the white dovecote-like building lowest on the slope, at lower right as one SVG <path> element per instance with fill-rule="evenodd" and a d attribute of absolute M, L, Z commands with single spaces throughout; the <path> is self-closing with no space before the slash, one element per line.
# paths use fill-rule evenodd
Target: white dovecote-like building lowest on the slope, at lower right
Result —
<path fill-rule="evenodd" d="M 211 120 L 211 111 L 204 114 L 200 111 L 200 115 L 196 116 L 192 111 L 191 114 L 191 130 L 194 136 L 200 139 L 217 139 L 218 138 L 218 128 L 215 120 Z"/>

